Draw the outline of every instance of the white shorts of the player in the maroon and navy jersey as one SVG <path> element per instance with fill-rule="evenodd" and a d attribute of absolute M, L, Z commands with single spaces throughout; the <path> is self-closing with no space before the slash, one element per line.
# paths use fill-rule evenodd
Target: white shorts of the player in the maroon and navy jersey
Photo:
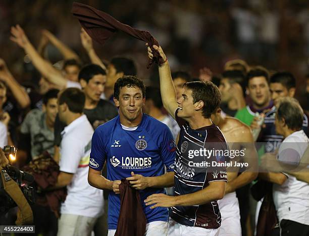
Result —
<path fill-rule="evenodd" d="M 159 234 L 158 234 L 159 235 Z M 180 223 L 177 223 L 175 220 L 170 218 L 169 228 L 168 228 L 169 236 L 218 236 L 219 229 L 208 229 L 194 226 L 186 226 Z"/>

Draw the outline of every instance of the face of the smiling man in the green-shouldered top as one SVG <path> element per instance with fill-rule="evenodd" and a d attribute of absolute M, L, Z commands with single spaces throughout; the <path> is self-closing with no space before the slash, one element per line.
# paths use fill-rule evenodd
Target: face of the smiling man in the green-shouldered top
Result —
<path fill-rule="evenodd" d="M 253 77 L 248 82 L 248 91 L 253 103 L 265 107 L 270 102 L 270 91 L 264 76 Z"/>

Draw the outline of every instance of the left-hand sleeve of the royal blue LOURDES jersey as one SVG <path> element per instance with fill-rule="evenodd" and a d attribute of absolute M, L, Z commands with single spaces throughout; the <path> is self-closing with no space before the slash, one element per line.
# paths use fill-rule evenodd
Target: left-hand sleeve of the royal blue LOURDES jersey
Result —
<path fill-rule="evenodd" d="M 94 131 L 91 141 L 91 152 L 89 167 L 95 170 L 101 170 L 107 158 L 107 152 L 103 142 L 104 134 L 98 128 Z"/>

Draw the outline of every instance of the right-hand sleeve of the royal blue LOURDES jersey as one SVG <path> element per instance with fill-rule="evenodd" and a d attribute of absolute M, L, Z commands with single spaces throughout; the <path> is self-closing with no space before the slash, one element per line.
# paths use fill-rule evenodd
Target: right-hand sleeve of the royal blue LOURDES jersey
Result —
<path fill-rule="evenodd" d="M 166 127 L 163 132 L 163 142 L 161 147 L 161 156 L 167 171 L 174 171 L 176 143 L 171 130 Z"/>

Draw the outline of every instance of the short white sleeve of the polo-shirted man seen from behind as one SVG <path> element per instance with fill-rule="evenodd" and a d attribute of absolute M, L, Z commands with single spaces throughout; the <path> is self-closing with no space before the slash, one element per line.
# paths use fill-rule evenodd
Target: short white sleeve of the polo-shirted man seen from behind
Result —
<path fill-rule="evenodd" d="M 82 155 L 83 147 L 77 139 L 64 138 L 60 148 L 60 171 L 76 173 Z"/>

